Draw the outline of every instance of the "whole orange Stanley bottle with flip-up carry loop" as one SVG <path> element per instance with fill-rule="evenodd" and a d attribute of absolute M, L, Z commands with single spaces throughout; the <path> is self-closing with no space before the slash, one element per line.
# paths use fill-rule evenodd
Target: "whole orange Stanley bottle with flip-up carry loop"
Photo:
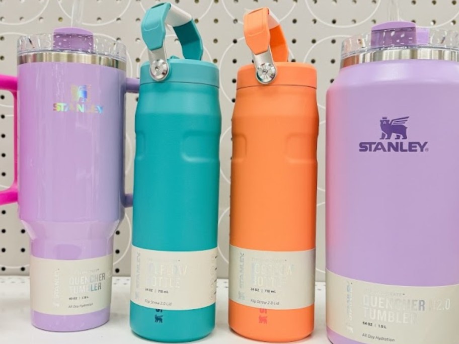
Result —
<path fill-rule="evenodd" d="M 238 73 L 233 115 L 230 326 L 263 341 L 314 328 L 317 75 L 287 62 L 279 21 L 244 18 L 254 65 Z"/>

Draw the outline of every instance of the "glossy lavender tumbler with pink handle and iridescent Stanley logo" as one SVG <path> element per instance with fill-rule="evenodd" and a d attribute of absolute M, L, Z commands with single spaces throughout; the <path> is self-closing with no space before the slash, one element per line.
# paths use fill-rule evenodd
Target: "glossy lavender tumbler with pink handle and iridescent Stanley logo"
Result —
<path fill-rule="evenodd" d="M 0 204 L 17 199 L 31 237 L 32 323 L 93 328 L 109 319 L 113 234 L 132 202 L 124 98 L 138 81 L 121 43 L 86 30 L 21 37 L 18 50 L 17 83 L 0 76 L 0 88 L 18 95 L 19 172 Z"/>

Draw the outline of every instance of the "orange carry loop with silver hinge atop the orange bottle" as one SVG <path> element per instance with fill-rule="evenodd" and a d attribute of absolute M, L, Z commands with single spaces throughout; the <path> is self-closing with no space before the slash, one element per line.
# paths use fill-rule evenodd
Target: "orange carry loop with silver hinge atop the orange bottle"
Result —
<path fill-rule="evenodd" d="M 244 36 L 252 51 L 256 76 L 260 83 L 270 83 L 277 75 L 274 63 L 287 62 L 288 47 L 279 20 L 268 8 L 244 16 Z"/>

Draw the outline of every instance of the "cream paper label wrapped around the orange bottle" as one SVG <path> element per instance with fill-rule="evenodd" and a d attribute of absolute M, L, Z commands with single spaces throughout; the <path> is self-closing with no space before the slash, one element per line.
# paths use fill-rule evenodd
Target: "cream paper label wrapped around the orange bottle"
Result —
<path fill-rule="evenodd" d="M 230 245 L 230 300 L 264 309 L 314 304 L 316 250 L 258 251 Z"/>

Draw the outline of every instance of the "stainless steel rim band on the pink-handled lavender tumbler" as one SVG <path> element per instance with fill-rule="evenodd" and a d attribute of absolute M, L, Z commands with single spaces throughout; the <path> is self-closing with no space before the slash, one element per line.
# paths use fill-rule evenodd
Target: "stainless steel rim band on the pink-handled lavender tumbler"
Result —
<path fill-rule="evenodd" d="M 126 62 L 113 57 L 75 52 L 44 51 L 24 53 L 18 56 L 18 64 L 32 62 L 73 62 L 98 64 L 101 66 L 126 70 Z"/>

